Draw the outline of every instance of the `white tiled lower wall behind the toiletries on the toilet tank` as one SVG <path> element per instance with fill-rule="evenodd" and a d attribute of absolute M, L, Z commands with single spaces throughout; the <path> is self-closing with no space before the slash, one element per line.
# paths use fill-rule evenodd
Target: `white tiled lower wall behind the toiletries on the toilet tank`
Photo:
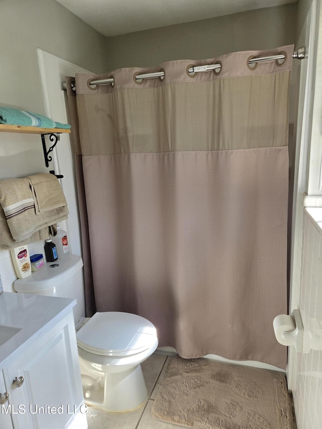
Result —
<path fill-rule="evenodd" d="M 35 243 L 28 244 L 30 255 L 34 253 L 42 253 L 44 255 L 44 261 L 46 261 L 44 253 L 44 243 L 44 241 L 37 241 Z M 15 280 L 17 280 L 17 276 L 9 250 L 0 249 L 0 276 L 4 291 L 15 292 L 14 282 Z"/>

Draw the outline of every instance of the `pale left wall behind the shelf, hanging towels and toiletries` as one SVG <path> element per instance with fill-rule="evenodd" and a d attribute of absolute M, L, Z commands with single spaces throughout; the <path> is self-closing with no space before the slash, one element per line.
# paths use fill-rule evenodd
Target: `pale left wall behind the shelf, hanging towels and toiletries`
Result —
<path fill-rule="evenodd" d="M 0 39 L 1 106 L 45 114 L 37 48 L 97 73 L 107 71 L 105 37 L 54 0 L 2 0 Z M 0 179 L 48 170 L 39 135 L 0 133 Z M 30 250 L 43 253 L 43 243 Z M 16 276 L 4 250 L 0 275 L 4 289 L 13 291 Z"/>

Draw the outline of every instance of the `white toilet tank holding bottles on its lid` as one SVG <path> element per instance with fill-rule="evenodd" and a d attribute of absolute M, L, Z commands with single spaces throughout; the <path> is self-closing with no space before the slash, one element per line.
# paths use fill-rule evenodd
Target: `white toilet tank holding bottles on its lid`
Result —
<path fill-rule="evenodd" d="M 14 283 L 20 293 L 57 296 L 77 300 L 74 306 L 75 326 L 84 317 L 84 278 L 81 256 L 69 254 L 64 259 L 47 262 L 44 267 Z"/>

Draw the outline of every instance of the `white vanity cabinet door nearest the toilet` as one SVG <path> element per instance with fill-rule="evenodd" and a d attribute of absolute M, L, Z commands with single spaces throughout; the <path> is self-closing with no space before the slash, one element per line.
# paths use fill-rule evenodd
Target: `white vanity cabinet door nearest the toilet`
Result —
<path fill-rule="evenodd" d="M 4 370 L 15 409 L 25 411 L 12 415 L 15 428 L 87 428 L 72 313 L 62 322 Z M 15 377 L 24 378 L 20 387 Z"/>

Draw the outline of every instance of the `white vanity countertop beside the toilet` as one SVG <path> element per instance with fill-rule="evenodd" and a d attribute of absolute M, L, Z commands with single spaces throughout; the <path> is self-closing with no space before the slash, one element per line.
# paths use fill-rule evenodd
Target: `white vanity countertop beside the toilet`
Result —
<path fill-rule="evenodd" d="M 0 342 L 0 369 L 72 311 L 75 304 L 76 300 L 69 298 L 14 292 L 0 295 L 0 339 L 3 338 Z M 6 334 L 10 336 L 13 333 L 4 342 Z"/>

